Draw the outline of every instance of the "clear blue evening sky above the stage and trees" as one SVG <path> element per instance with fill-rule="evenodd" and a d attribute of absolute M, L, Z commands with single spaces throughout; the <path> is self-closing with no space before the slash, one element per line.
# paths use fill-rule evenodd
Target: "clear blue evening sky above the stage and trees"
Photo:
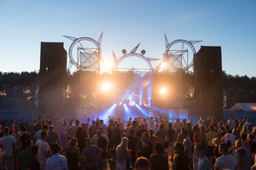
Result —
<path fill-rule="evenodd" d="M 38 71 L 41 42 L 72 41 L 62 35 L 98 39 L 103 31 L 102 58 L 112 51 L 138 52 L 162 59 L 165 37 L 202 40 L 221 46 L 223 70 L 256 77 L 255 0 L 0 0 L 0 71 Z M 143 65 L 143 64 L 142 64 Z M 157 64 L 153 64 L 156 66 Z"/>

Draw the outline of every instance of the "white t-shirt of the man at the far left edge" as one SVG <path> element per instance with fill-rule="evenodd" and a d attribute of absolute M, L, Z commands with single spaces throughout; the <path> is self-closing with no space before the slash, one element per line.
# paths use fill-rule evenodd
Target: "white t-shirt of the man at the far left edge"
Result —
<path fill-rule="evenodd" d="M 0 139 L 2 145 L 1 156 L 12 156 L 13 155 L 13 144 L 15 144 L 15 138 L 10 135 L 4 135 Z"/>

